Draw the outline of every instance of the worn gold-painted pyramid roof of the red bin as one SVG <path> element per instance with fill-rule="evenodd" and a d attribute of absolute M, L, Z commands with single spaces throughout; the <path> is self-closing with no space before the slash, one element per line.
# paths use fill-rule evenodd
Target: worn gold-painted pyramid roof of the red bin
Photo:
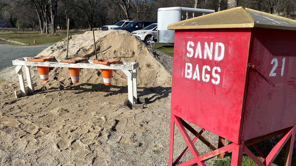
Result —
<path fill-rule="evenodd" d="M 253 27 L 296 30 L 296 20 L 236 7 L 170 24 L 168 30 Z"/>

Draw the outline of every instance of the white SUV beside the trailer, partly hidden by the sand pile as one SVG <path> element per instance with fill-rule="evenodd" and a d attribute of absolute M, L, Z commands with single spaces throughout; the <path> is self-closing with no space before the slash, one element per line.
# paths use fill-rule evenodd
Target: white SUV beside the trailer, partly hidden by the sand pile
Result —
<path fill-rule="evenodd" d="M 147 42 L 152 40 L 152 36 L 153 40 L 157 39 L 157 23 L 150 24 L 141 30 L 136 30 L 131 33 L 133 35 L 139 36 L 141 40 L 145 42 L 145 44 L 148 44 Z"/>

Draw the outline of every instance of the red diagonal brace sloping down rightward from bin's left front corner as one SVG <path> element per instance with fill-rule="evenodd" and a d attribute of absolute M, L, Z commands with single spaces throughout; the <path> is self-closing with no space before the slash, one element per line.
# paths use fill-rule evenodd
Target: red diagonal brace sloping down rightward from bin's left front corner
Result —
<path fill-rule="evenodd" d="M 185 130 L 184 126 L 182 125 L 180 119 L 175 116 L 175 123 L 176 123 L 176 126 L 178 127 L 181 135 L 183 136 L 188 148 L 190 149 L 194 159 L 196 160 L 196 163 L 199 165 L 199 166 L 206 166 L 205 165 L 205 162 L 201 162 L 197 157 L 200 156 L 200 154 L 197 152 L 197 149 L 195 148 L 193 142 L 191 141 L 187 131 Z"/>

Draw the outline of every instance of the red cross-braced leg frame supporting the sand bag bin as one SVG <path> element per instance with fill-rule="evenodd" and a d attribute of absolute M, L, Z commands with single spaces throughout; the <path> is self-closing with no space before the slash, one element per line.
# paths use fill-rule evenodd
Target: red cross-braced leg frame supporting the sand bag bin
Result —
<path fill-rule="evenodd" d="M 170 124 L 170 149 L 169 149 L 169 166 L 175 166 L 177 165 L 178 161 L 184 156 L 184 154 L 187 152 L 188 149 L 190 149 L 190 152 L 192 153 L 194 159 L 183 162 L 179 164 L 178 166 L 189 166 L 192 164 L 197 163 L 199 166 L 206 166 L 204 160 L 209 159 L 211 157 L 215 157 L 219 154 L 223 154 L 225 152 L 232 152 L 231 154 L 231 166 L 241 166 L 242 165 L 242 155 L 243 153 L 247 154 L 258 166 L 270 166 L 276 156 L 279 154 L 281 149 L 284 147 L 284 144 L 287 142 L 287 153 L 285 158 L 285 165 L 284 166 L 291 166 L 291 160 L 292 160 L 292 151 L 294 146 L 294 139 L 295 139 L 295 129 L 296 125 L 289 127 L 282 133 L 282 136 L 280 137 L 279 141 L 276 143 L 274 148 L 271 150 L 271 152 L 268 154 L 268 156 L 265 158 L 263 154 L 260 154 L 260 156 L 264 157 L 263 162 L 261 162 L 248 148 L 247 146 L 253 145 L 255 149 L 259 152 L 260 149 L 255 145 L 258 141 L 247 141 L 245 144 L 245 141 L 242 140 L 240 144 L 231 143 L 226 146 L 222 146 L 221 148 L 218 148 L 216 150 L 213 150 L 212 152 L 209 152 L 207 154 L 200 155 L 197 149 L 194 147 L 194 141 L 196 141 L 198 138 L 194 137 L 193 140 L 190 139 L 187 131 L 185 130 L 182 119 L 178 116 L 175 116 L 171 114 L 171 124 Z M 186 123 L 186 122 L 185 122 Z M 173 143 L 174 143 L 174 126 L 178 127 L 178 130 L 180 131 L 181 135 L 184 138 L 184 141 L 186 142 L 187 146 L 185 150 L 181 153 L 181 155 L 176 159 L 176 161 L 173 162 Z M 200 134 L 204 129 L 200 131 Z M 274 133 L 278 133 L 279 131 L 276 131 Z M 271 133 L 271 136 L 274 136 L 275 134 Z M 263 141 L 264 139 L 260 140 Z M 253 143 L 252 143 L 253 142 Z"/>

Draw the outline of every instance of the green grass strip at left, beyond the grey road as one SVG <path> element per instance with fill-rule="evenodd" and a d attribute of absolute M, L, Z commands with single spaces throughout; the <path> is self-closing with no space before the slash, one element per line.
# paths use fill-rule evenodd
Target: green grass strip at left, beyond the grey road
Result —
<path fill-rule="evenodd" d="M 69 35 L 82 34 L 84 31 L 70 30 Z M 57 30 L 57 34 L 59 35 L 51 35 L 40 32 L 0 32 L 1 38 L 14 40 L 21 43 L 34 43 L 34 39 L 36 40 L 36 44 L 45 44 L 45 43 L 57 43 L 58 41 L 67 37 L 66 30 Z M 15 45 L 8 42 L 10 45 Z"/>

